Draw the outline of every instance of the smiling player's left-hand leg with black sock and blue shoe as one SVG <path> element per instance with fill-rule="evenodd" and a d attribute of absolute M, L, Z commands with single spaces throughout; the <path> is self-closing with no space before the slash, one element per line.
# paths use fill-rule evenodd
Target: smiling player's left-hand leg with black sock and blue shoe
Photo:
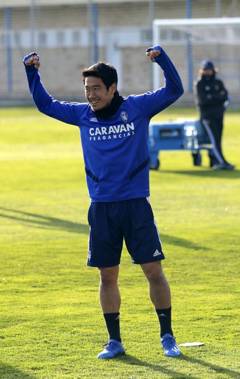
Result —
<path fill-rule="evenodd" d="M 98 354 L 98 358 L 113 358 L 125 353 L 120 336 L 121 297 L 117 284 L 118 271 L 119 266 L 99 268 L 99 299 L 109 334 L 109 343 L 103 346 L 105 349 Z"/>

